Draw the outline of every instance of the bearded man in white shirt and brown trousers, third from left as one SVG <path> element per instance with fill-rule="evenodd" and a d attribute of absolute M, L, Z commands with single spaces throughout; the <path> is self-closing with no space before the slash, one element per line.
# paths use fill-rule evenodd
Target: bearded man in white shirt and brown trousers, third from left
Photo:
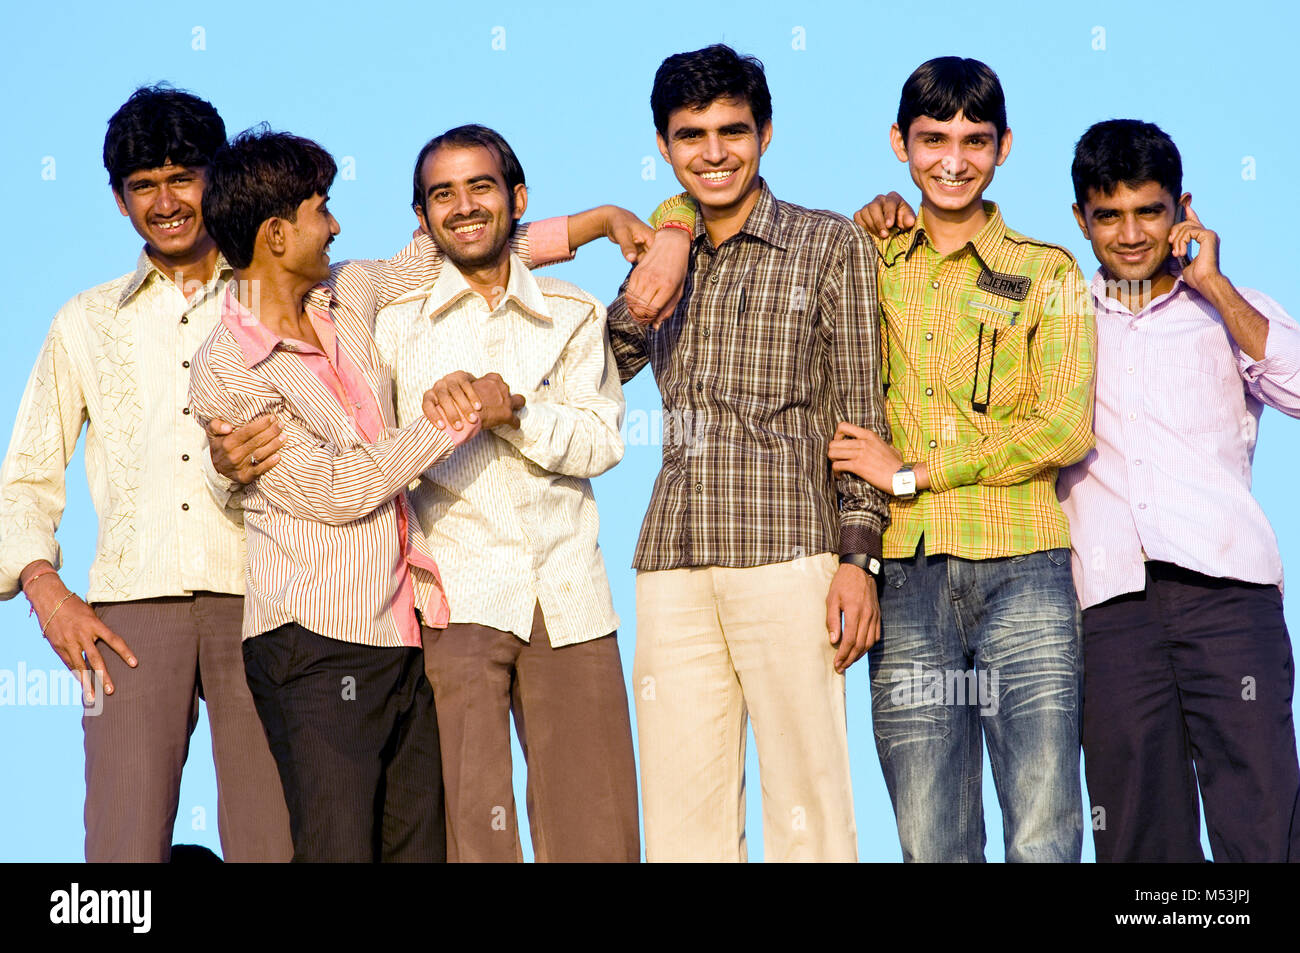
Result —
<path fill-rule="evenodd" d="M 398 420 L 441 377 L 443 425 L 477 417 L 473 382 L 523 395 L 517 420 L 469 438 L 415 493 L 451 624 L 425 640 L 442 744 L 450 861 L 521 858 L 510 715 L 529 762 L 540 861 L 636 861 L 627 692 L 590 477 L 623 456 L 623 390 L 604 308 L 534 277 L 508 239 L 528 202 L 510 146 L 482 126 L 430 140 L 413 207 L 455 268 L 382 309 L 376 341 Z"/>

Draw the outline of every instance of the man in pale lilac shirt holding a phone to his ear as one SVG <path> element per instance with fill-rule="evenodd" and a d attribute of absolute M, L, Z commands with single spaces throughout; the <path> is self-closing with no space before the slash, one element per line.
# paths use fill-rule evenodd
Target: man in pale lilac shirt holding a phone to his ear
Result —
<path fill-rule="evenodd" d="M 1300 328 L 1219 270 L 1158 127 L 1092 126 L 1072 176 L 1101 264 L 1097 443 L 1057 493 L 1097 859 L 1202 861 L 1199 783 L 1216 861 L 1300 861 L 1282 562 L 1251 495 L 1264 404 L 1300 417 Z"/>

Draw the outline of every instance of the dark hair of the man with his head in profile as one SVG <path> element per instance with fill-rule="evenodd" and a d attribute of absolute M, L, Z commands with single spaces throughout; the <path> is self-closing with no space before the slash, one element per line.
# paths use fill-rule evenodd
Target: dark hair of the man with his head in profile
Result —
<path fill-rule="evenodd" d="M 212 157 L 203 190 L 203 221 L 235 268 L 252 264 L 257 229 L 268 218 L 298 221 L 298 207 L 329 194 L 338 166 L 311 139 L 248 129 Z"/>

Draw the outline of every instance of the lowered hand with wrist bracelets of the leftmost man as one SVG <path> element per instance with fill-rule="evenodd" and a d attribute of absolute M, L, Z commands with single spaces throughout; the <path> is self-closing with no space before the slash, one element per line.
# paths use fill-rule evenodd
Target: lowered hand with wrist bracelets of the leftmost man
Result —
<path fill-rule="evenodd" d="M 108 676 L 98 641 L 116 651 L 131 668 L 139 662 L 121 636 L 101 623 L 95 610 L 82 602 L 81 597 L 72 594 L 58 573 L 42 572 L 42 568 L 53 567 L 39 560 L 23 569 L 23 576 L 27 577 L 23 592 L 31 599 L 36 618 L 46 625 L 46 641 L 64 664 L 77 673 L 86 703 L 92 705 L 96 681 L 104 685 L 105 694 L 113 694 L 113 680 Z"/>

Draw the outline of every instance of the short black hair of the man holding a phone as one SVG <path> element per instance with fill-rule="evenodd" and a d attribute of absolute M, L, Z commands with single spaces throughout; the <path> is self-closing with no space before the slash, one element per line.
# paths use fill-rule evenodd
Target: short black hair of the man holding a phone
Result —
<path fill-rule="evenodd" d="M 1183 194 L 1183 157 L 1153 122 L 1106 120 L 1079 137 L 1070 177 L 1080 212 L 1089 189 L 1113 195 L 1121 183 L 1136 189 L 1143 182 L 1157 182 L 1178 202 Z"/>

